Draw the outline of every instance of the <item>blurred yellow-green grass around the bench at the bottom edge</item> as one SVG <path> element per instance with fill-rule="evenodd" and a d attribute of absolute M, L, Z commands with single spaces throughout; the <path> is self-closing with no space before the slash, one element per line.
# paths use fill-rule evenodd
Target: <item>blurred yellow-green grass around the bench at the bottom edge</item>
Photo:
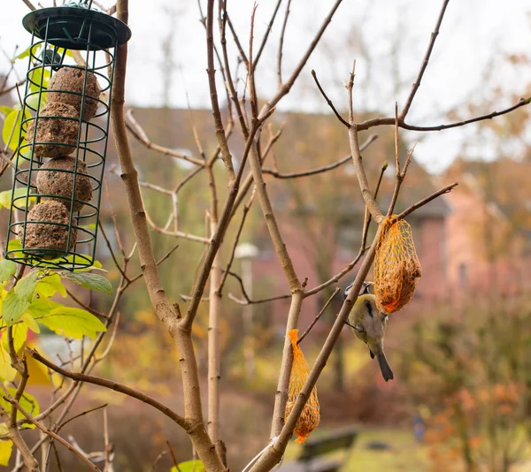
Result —
<path fill-rule="evenodd" d="M 316 431 L 317 432 L 317 431 Z M 326 430 L 319 430 L 326 433 Z M 315 434 L 315 436 L 318 436 Z M 390 446 L 389 451 L 373 451 L 366 448 L 371 441 L 382 441 Z M 300 445 L 291 441 L 285 461 L 296 458 Z M 409 430 L 362 429 L 354 445 L 345 472 L 425 472 L 430 463 L 426 448 L 419 445 Z"/>

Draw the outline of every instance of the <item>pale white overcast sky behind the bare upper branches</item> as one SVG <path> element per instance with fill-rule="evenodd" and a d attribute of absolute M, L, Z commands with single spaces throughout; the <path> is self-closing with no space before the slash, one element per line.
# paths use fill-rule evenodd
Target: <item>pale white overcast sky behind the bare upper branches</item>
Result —
<path fill-rule="evenodd" d="M 104 0 L 101 4 L 111 5 Z M 205 7 L 205 1 L 201 0 Z M 266 30 L 276 0 L 258 2 L 255 38 Z M 284 4 L 286 0 L 284 1 Z M 43 0 L 51 6 L 51 0 Z M 228 9 L 244 47 L 249 43 L 250 0 L 228 0 Z M 293 0 L 284 47 L 284 78 L 301 57 L 333 2 Z M 347 80 L 352 59 L 357 63 L 355 104 L 360 109 L 393 114 L 394 102 L 404 103 L 427 48 L 429 35 L 442 2 L 439 0 L 344 0 L 319 48 L 308 62 L 301 80 L 281 102 L 281 110 L 326 111 L 310 75 L 315 69 L 328 95 L 345 109 Z M 195 0 L 130 0 L 127 103 L 138 106 L 187 106 L 210 103 L 205 56 L 204 27 L 198 21 Z M 2 0 L 0 46 L 12 55 L 16 45 L 27 47 L 30 36 L 21 26 L 28 10 L 21 0 Z M 276 56 L 283 10 L 273 27 L 271 42 L 261 59 L 258 90 L 262 97 L 276 88 Z M 217 25 L 215 28 L 217 30 Z M 165 52 L 164 42 L 172 44 Z M 514 101 L 510 94 L 524 95 L 531 82 L 529 67 L 509 65 L 504 56 L 526 53 L 531 45 L 529 0 L 450 0 L 434 54 L 416 95 L 408 122 L 415 125 L 443 123 L 445 112 L 458 107 L 466 118 L 465 105 L 481 105 L 493 97 L 496 87 L 506 96 L 482 112 L 501 110 Z M 235 49 L 231 49 L 236 57 Z M 232 63 L 235 71 L 235 59 Z M 9 61 L 0 57 L 0 72 Z M 19 73 L 24 73 L 26 64 Z M 242 68 L 240 75 L 243 78 Z M 242 81 L 241 81 L 242 83 Z M 165 89 L 169 90 L 165 93 Z M 222 94 L 219 94 L 222 96 Z M 495 137 L 478 133 L 475 126 L 441 133 L 404 133 L 419 141 L 415 156 L 429 171 L 442 171 L 458 155 L 491 159 L 499 152 Z M 178 147 L 178 143 L 175 143 Z M 496 150 L 495 150 L 496 149 Z M 522 142 L 510 142 L 505 153 L 518 155 Z M 333 160 L 333 159 L 332 159 Z"/>

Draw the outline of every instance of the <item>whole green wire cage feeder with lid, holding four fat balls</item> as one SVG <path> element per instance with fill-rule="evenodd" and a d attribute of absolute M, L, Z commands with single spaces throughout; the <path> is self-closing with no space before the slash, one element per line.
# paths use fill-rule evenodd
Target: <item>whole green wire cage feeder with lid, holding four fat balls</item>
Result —
<path fill-rule="evenodd" d="M 42 8 L 32 34 L 5 256 L 33 267 L 94 263 L 114 54 L 126 24 L 92 1 Z"/>

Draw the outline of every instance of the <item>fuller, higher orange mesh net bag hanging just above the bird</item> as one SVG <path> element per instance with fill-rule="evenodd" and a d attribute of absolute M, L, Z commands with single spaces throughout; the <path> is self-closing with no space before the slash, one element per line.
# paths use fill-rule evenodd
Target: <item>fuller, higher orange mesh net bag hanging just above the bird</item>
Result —
<path fill-rule="evenodd" d="M 412 227 L 404 220 L 391 223 L 394 218 L 396 215 L 391 215 L 381 222 L 374 255 L 376 306 L 388 315 L 412 300 L 421 276 Z"/>

